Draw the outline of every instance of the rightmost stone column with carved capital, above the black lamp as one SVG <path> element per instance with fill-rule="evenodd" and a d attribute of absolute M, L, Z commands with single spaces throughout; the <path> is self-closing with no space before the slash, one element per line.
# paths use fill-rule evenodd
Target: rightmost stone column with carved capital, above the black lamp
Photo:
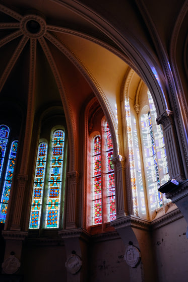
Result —
<path fill-rule="evenodd" d="M 173 112 L 166 110 L 157 119 L 157 124 L 163 127 L 165 148 L 168 160 L 170 178 L 175 178 L 178 182 L 184 180 L 182 162 L 179 158 L 179 146 L 174 130 Z"/>

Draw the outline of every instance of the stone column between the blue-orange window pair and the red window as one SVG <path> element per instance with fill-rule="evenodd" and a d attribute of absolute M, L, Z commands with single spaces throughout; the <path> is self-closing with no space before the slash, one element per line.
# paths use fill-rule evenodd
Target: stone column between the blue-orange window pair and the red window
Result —
<path fill-rule="evenodd" d="M 79 182 L 79 173 L 77 171 L 68 172 L 68 214 L 66 229 L 77 227 L 78 210 L 77 210 L 77 190 Z"/>

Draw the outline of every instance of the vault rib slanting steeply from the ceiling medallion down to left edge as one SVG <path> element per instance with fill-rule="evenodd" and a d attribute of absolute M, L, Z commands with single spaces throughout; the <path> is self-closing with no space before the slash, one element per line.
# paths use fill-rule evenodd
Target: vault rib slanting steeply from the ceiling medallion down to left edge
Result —
<path fill-rule="evenodd" d="M 2 91 L 5 83 L 6 83 L 6 80 L 7 78 L 9 77 L 10 73 L 11 73 L 11 70 L 13 69 L 18 57 L 20 56 L 24 46 L 26 45 L 28 41 L 28 37 L 24 36 L 21 40 L 20 40 L 20 43 L 18 44 L 16 50 L 14 51 L 11 59 L 9 60 L 3 74 L 2 74 L 2 77 L 0 79 L 0 92 Z"/>

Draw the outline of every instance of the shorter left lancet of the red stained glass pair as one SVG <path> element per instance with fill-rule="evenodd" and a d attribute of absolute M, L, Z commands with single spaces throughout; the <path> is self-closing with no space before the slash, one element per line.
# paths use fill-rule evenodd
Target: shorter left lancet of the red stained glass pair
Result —
<path fill-rule="evenodd" d="M 102 223 L 101 138 L 93 139 L 93 224 Z"/>

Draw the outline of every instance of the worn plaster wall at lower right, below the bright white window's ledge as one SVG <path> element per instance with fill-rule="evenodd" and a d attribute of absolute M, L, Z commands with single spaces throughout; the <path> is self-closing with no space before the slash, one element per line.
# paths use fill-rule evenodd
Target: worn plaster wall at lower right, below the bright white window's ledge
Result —
<path fill-rule="evenodd" d="M 160 282 L 186 282 L 188 277 L 187 224 L 184 218 L 153 232 L 153 250 Z"/>

